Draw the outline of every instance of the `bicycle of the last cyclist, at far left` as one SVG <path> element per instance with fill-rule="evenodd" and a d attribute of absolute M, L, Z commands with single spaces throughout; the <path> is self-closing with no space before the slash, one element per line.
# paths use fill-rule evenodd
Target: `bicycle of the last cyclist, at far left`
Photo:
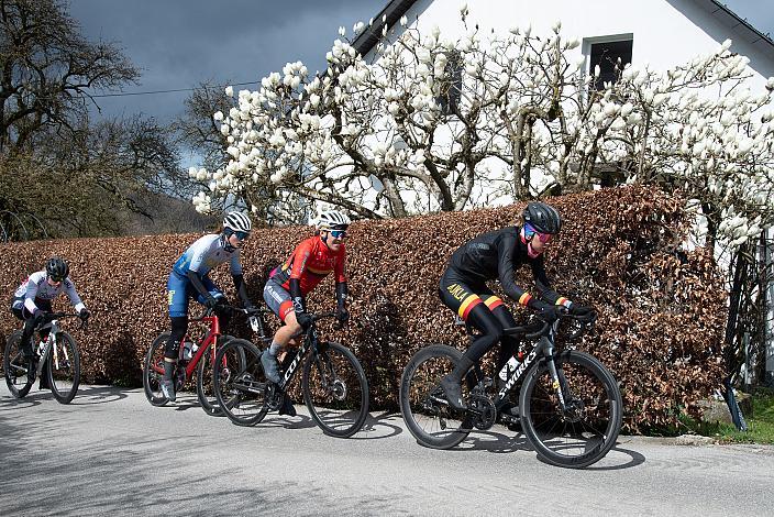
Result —
<path fill-rule="evenodd" d="M 49 312 L 45 315 L 43 323 L 35 328 L 35 334 L 41 338 L 36 346 L 34 359 L 29 361 L 19 350 L 22 331 L 16 330 L 5 341 L 5 352 L 2 358 L 2 367 L 5 373 L 8 389 L 16 398 L 24 397 L 34 383 L 29 375 L 35 371 L 34 378 L 47 383 L 51 393 L 60 404 L 69 404 L 78 393 L 80 384 L 80 354 L 75 339 L 59 324 L 63 318 L 79 317 L 76 314 Z M 86 320 L 81 320 L 81 328 Z M 45 375 L 45 377 L 43 377 Z"/>

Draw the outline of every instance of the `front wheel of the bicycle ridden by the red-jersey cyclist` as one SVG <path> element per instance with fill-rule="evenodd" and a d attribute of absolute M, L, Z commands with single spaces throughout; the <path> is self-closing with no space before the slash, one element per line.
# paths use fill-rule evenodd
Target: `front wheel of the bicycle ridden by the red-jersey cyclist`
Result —
<path fill-rule="evenodd" d="M 340 343 L 320 343 L 303 364 L 303 402 L 322 432 L 350 438 L 368 416 L 368 381 L 360 361 Z"/>

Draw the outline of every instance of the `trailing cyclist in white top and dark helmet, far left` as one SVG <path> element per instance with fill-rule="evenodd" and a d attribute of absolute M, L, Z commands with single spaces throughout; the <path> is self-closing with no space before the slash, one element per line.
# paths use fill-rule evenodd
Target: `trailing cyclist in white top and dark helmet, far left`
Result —
<path fill-rule="evenodd" d="M 19 350 L 27 361 L 35 360 L 32 349 L 32 333 L 37 326 L 45 321 L 46 312 L 52 311 L 52 300 L 59 294 L 64 292 L 67 295 L 81 319 L 88 319 L 91 316 L 91 312 L 89 312 L 75 290 L 75 284 L 69 278 L 69 272 L 70 268 L 67 262 L 59 257 L 53 257 L 46 262 L 44 270 L 30 275 L 16 287 L 13 294 L 11 312 L 24 321 Z M 30 382 L 34 381 L 34 367 L 30 369 L 29 375 L 32 377 Z"/>

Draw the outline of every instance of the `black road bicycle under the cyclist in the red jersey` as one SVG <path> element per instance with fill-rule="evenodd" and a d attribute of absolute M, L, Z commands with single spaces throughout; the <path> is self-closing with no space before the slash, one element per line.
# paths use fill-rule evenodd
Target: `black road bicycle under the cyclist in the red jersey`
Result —
<path fill-rule="evenodd" d="M 262 351 L 252 343 L 230 341 L 218 352 L 213 382 L 218 405 L 239 426 L 261 422 L 269 410 L 281 407 L 286 389 L 301 360 L 303 402 L 325 435 L 349 438 L 360 431 L 368 415 L 368 382 L 357 358 L 344 345 L 320 341 L 317 321 L 335 314 L 312 316 L 298 351 L 287 353 L 279 384 L 268 380 L 261 364 Z M 270 339 L 265 340 L 265 342 Z M 265 353 L 265 352 L 264 352 Z M 244 362 L 239 363 L 237 358 Z M 243 364 L 239 371 L 221 374 L 222 364 Z"/>

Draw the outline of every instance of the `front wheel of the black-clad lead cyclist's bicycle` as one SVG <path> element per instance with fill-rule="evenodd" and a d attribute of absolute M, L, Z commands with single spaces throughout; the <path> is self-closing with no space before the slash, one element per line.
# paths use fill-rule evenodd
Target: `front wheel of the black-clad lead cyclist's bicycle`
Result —
<path fill-rule="evenodd" d="M 616 444 L 621 393 L 612 374 L 589 354 L 562 352 L 554 363 L 559 386 L 545 360 L 528 373 L 519 404 L 521 428 L 545 461 L 582 469 L 601 460 Z"/>

